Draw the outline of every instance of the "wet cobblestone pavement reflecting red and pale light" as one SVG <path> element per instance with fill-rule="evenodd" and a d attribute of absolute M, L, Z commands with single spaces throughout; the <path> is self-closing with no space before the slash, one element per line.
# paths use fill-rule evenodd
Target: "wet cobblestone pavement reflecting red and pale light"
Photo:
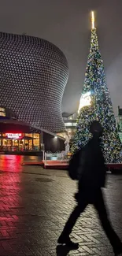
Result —
<path fill-rule="evenodd" d="M 14 164 L 13 164 L 14 165 Z M 77 221 L 72 239 L 79 250 L 57 247 L 57 238 L 75 206 L 76 182 L 65 171 L 0 164 L 1 256 L 113 256 L 92 206 Z M 105 201 L 122 239 L 122 176 L 108 176 Z M 57 248 L 56 248 L 57 247 Z"/>

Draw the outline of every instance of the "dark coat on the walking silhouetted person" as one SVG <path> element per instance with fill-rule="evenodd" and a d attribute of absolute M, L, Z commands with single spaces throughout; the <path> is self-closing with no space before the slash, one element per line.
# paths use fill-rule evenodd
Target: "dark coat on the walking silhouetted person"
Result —
<path fill-rule="evenodd" d="M 83 159 L 81 158 L 83 165 L 79 179 L 79 194 L 85 193 L 90 201 L 99 188 L 105 187 L 105 161 L 100 143 L 98 135 L 94 134 L 84 147 Z"/>

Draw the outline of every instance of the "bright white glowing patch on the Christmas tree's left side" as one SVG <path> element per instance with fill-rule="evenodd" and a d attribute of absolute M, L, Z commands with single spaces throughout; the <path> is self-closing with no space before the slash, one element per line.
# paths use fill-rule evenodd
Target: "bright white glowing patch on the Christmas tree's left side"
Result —
<path fill-rule="evenodd" d="M 81 95 L 78 113 L 83 106 L 91 106 L 91 91 Z"/>

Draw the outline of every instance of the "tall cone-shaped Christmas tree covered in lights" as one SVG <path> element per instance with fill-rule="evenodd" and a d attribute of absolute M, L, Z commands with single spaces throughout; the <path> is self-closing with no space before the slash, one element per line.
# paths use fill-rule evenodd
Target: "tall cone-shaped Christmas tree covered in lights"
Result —
<path fill-rule="evenodd" d="M 92 12 L 91 48 L 79 102 L 79 117 L 72 145 L 73 152 L 84 147 L 91 138 L 89 127 L 95 120 L 98 120 L 104 128 L 102 150 L 105 161 L 120 162 L 120 137 L 105 80 L 103 61 L 98 49 L 98 36 L 94 28 L 94 12 Z"/>

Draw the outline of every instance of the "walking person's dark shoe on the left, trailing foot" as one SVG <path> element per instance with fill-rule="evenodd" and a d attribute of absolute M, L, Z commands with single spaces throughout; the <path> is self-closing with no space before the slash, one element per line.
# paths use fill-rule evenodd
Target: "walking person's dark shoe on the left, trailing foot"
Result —
<path fill-rule="evenodd" d="M 57 239 L 57 243 L 59 244 L 65 244 L 67 247 L 70 247 L 74 250 L 77 250 L 79 248 L 79 243 L 73 243 L 69 237 L 65 236 L 59 236 Z"/>

